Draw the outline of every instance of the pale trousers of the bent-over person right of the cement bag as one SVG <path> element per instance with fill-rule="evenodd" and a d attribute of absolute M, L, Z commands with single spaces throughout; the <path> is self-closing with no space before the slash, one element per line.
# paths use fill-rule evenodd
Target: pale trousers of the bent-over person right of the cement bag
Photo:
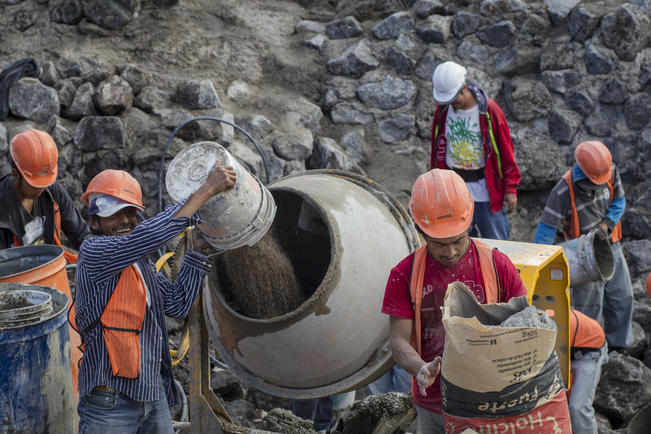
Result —
<path fill-rule="evenodd" d="M 597 434 L 592 401 L 601 377 L 601 366 L 608 362 L 607 345 L 601 351 L 582 353 L 572 359 L 572 390 L 568 406 L 574 434 Z"/>

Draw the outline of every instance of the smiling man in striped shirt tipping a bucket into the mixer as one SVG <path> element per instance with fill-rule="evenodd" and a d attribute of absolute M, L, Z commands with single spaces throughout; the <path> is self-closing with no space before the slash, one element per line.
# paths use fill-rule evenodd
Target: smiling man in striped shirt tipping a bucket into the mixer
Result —
<path fill-rule="evenodd" d="M 230 166 L 214 166 L 185 201 L 138 224 L 140 185 L 122 170 L 92 179 L 82 199 L 93 236 L 77 262 L 76 316 L 84 339 L 79 369 L 79 432 L 172 433 L 168 405 L 178 404 L 165 315 L 188 314 L 210 263 L 206 241 L 193 246 L 172 283 L 149 255 L 197 222 L 196 212 L 236 181 Z"/>

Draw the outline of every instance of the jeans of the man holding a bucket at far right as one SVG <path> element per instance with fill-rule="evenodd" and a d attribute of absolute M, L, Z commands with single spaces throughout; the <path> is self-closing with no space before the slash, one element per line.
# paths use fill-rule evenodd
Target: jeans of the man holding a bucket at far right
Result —
<path fill-rule="evenodd" d="M 622 243 L 612 246 L 615 258 L 615 275 L 604 282 L 589 282 L 571 288 L 571 301 L 575 309 L 601 322 L 610 347 L 627 347 L 633 343 L 633 285 Z"/>

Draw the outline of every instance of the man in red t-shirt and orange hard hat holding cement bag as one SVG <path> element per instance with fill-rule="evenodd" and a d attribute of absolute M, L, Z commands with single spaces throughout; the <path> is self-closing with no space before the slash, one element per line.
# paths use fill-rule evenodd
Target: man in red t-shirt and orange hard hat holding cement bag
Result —
<path fill-rule="evenodd" d="M 438 372 L 445 342 L 440 308 L 448 285 L 463 282 L 480 303 L 527 293 L 505 254 L 469 237 L 473 210 L 473 197 L 456 172 L 433 169 L 418 177 L 409 212 L 426 243 L 391 270 L 384 293 L 393 358 L 413 376 L 423 433 L 444 432 Z"/>

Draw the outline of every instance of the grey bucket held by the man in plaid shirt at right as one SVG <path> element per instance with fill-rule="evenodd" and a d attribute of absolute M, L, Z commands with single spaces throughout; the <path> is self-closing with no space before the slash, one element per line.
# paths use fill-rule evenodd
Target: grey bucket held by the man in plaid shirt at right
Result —
<path fill-rule="evenodd" d="M 602 281 L 615 274 L 615 258 L 610 242 L 591 231 L 564 243 L 563 252 L 570 264 L 570 285 Z"/>

